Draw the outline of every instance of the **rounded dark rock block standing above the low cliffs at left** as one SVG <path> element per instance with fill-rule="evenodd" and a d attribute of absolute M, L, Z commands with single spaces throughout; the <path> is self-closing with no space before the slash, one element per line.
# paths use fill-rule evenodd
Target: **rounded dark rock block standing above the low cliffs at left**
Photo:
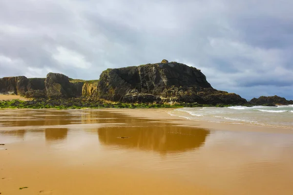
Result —
<path fill-rule="evenodd" d="M 48 98 L 74 98 L 74 84 L 69 78 L 59 73 L 48 73 L 44 81 Z"/>

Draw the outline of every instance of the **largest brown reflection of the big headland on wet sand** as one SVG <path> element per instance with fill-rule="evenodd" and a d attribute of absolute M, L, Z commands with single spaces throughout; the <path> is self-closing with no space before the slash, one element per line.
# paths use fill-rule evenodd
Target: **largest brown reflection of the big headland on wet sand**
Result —
<path fill-rule="evenodd" d="M 100 128 L 98 135 L 100 142 L 105 145 L 153 150 L 164 154 L 199 148 L 205 143 L 209 131 L 155 123 L 145 127 Z"/>

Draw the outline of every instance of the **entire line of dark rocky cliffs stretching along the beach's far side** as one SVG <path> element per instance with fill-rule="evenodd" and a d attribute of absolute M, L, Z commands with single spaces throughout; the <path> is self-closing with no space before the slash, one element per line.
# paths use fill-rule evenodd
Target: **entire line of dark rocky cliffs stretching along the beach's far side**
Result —
<path fill-rule="evenodd" d="M 293 104 L 292 100 L 277 96 L 253 98 L 248 102 L 237 94 L 212 88 L 201 70 L 166 59 L 161 63 L 107 69 L 99 80 L 72 79 L 59 73 L 48 73 L 46 78 L 0 78 L 0 93 L 34 98 L 34 101 L 42 99 L 42 102 L 90 99 L 99 105 L 103 102 L 192 106 Z"/>

